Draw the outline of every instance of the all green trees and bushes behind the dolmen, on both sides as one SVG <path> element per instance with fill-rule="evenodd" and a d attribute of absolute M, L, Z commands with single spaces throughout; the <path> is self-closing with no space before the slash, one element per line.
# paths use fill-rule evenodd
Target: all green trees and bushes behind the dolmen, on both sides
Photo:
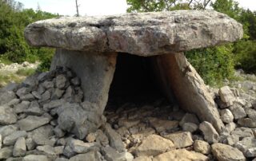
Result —
<path fill-rule="evenodd" d="M 234 0 L 127 0 L 128 12 L 161 10 L 205 10 L 211 8 L 228 14 L 241 22 L 244 37 L 241 41 L 186 52 L 186 57 L 201 74 L 206 84 L 216 85 L 232 78 L 234 68 L 256 73 L 256 12 L 243 10 Z M 42 10 L 23 9 L 22 3 L 0 0 L 0 61 L 4 63 L 41 61 L 40 70 L 50 67 L 53 49 L 27 45 L 23 32 L 31 22 L 58 17 Z"/>

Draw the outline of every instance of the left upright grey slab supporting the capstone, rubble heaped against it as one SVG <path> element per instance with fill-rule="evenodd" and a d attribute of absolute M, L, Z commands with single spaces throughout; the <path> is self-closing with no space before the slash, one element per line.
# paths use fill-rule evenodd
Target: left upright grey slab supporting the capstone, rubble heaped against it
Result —
<path fill-rule="evenodd" d="M 98 104 L 102 114 L 114 76 L 117 53 L 90 53 L 57 49 L 50 69 L 62 65 L 72 69 L 81 78 L 84 100 Z"/>

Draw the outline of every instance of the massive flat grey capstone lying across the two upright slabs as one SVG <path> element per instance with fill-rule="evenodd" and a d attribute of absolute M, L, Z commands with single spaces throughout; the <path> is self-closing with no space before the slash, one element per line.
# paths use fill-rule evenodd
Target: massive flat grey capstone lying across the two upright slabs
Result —
<path fill-rule="evenodd" d="M 214 10 L 53 18 L 25 30 L 26 40 L 34 46 L 139 56 L 220 45 L 242 34 L 241 24 Z"/>

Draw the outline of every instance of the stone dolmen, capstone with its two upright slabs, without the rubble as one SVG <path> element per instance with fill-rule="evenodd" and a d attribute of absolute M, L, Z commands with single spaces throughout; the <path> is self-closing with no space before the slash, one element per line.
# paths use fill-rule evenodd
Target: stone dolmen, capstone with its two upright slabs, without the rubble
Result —
<path fill-rule="evenodd" d="M 241 24 L 214 10 L 53 18 L 25 30 L 30 45 L 57 49 L 51 69 L 73 69 L 82 79 L 84 99 L 98 104 L 98 114 L 106 107 L 118 54 L 130 53 L 152 57 L 165 92 L 173 92 L 182 108 L 218 132 L 223 123 L 214 100 L 182 52 L 236 41 L 242 35 Z"/>

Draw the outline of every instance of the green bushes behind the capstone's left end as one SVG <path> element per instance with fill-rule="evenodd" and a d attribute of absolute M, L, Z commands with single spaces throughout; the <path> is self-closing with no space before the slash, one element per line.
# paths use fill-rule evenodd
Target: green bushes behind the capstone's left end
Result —
<path fill-rule="evenodd" d="M 23 9 L 22 3 L 0 0 L 0 60 L 1 62 L 41 61 L 40 68 L 49 67 L 53 49 L 30 47 L 24 38 L 24 29 L 31 22 L 58 17 L 41 10 Z M 47 66 L 48 65 L 48 66 Z"/>

